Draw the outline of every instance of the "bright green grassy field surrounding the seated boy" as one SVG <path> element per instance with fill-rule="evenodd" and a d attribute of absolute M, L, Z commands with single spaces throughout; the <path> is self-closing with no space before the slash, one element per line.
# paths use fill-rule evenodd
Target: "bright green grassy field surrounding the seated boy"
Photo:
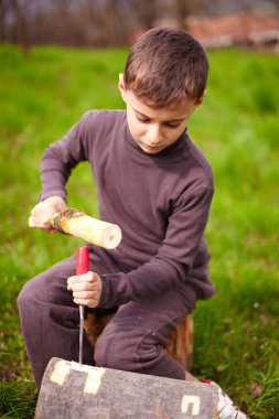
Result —
<path fill-rule="evenodd" d="M 32 418 L 36 393 L 17 294 L 72 255 L 77 239 L 28 228 L 44 148 L 89 108 L 122 108 L 126 51 L 0 47 L 0 418 Z M 217 294 L 194 313 L 193 373 L 218 382 L 251 418 L 279 417 L 278 56 L 210 53 L 204 105 L 190 125 L 216 193 L 206 230 Z M 98 215 L 88 166 L 68 183 L 69 205 Z"/>

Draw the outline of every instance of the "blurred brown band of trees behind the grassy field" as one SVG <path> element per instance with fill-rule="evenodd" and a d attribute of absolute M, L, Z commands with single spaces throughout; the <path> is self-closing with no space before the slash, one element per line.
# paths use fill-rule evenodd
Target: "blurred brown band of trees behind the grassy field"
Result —
<path fill-rule="evenodd" d="M 158 24 L 186 29 L 190 14 L 224 14 L 279 0 L 0 0 L 0 42 L 121 46 Z"/>

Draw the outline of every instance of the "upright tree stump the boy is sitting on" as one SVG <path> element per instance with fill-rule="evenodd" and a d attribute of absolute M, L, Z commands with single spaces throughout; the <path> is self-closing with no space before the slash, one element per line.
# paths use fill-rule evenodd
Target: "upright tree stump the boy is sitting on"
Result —
<path fill-rule="evenodd" d="M 115 310 L 99 310 L 87 314 L 85 330 L 93 348 L 114 314 Z M 165 348 L 185 370 L 191 370 L 193 359 L 193 319 L 191 314 L 182 319 L 178 326 L 173 329 Z"/>

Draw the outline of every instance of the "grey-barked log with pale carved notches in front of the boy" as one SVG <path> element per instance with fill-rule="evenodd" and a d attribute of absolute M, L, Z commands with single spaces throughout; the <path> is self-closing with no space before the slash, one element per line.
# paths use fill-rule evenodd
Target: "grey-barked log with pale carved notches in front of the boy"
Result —
<path fill-rule="evenodd" d="M 35 419 L 216 419 L 217 387 L 52 358 Z"/>

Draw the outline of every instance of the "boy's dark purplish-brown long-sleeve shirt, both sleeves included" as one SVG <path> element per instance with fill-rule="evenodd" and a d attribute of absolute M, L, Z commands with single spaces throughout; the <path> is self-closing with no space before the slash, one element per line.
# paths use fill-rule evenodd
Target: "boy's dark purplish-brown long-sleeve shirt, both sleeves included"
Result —
<path fill-rule="evenodd" d="M 203 235 L 213 174 L 186 130 L 169 148 L 148 154 L 132 139 L 126 111 L 88 111 L 45 151 L 41 200 L 66 200 L 65 184 L 81 161 L 90 164 L 101 219 L 122 229 L 117 250 L 95 249 L 117 267 L 101 275 L 99 305 L 140 300 L 183 282 L 191 282 L 198 298 L 211 297 Z M 204 275 L 198 276 L 201 266 Z"/>

